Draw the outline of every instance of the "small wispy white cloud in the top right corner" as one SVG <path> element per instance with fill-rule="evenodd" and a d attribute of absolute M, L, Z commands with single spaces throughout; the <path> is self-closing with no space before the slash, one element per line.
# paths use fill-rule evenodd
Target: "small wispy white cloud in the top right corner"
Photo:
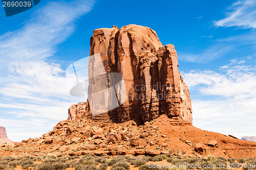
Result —
<path fill-rule="evenodd" d="M 243 0 L 233 3 L 226 12 L 226 17 L 215 21 L 219 27 L 256 28 L 256 1 Z"/>

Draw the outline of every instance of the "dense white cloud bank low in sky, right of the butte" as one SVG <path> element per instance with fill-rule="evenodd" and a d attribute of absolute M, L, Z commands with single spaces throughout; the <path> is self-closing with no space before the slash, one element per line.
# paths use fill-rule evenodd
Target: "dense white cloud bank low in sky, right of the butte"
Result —
<path fill-rule="evenodd" d="M 182 74 L 192 94 L 193 123 L 200 129 L 240 138 L 255 136 L 251 129 L 256 127 L 256 67 L 232 61 L 220 72 L 196 70 Z M 193 99 L 193 89 L 201 93 L 201 99 L 198 95 Z"/>

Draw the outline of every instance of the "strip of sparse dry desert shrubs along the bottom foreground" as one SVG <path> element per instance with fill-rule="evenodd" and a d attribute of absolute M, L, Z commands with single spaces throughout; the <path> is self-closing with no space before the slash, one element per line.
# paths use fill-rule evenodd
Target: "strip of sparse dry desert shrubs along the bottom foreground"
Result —
<path fill-rule="evenodd" d="M 250 170 L 256 169 L 256 159 L 255 158 L 228 158 L 225 157 L 214 157 L 212 155 L 208 155 L 205 158 L 182 158 L 179 156 L 170 156 L 167 157 L 165 155 L 158 155 L 155 157 L 151 156 L 91 156 L 91 155 L 84 155 L 84 156 L 57 156 L 54 154 L 51 155 L 43 155 L 43 156 L 7 156 L 7 157 L 0 157 L 0 170 L 14 170 L 15 167 L 19 165 L 23 169 L 27 170 L 65 170 L 68 167 L 74 168 L 75 170 L 106 170 L 110 168 L 111 170 L 126 170 L 130 169 L 130 165 L 134 165 L 135 167 L 139 167 L 139 170 L 174 170 L 174 169 L 198 169 L 195 167 L 189 166 L 182 166 L 179 168 L 173 167 L 153 167 L 154 163 L 150 161 L 166 161 L 171 165 L 183 164 L 188 163 L 190 165 L 201 165 L 204 167 L 204 170 L 226 170 L 230 169 L 227 163 L 234 163 L 235 165 L 240 165 L 241 163 L 254 164 L 255 166 L 243 167 L 242 169 Z M 35 162 L 36 161 L 36 162 Z M 155 165 L 159 165 L 159 163 L 155 163 Z M 150 166 L 151 165 L 151 166 Z M 164 163 L 163 163 L 164 165 Z M 222 165 L 222 167 L 220 167 Z M 223 167 L 224 165 L 224 167 Z M 111 167 L 110 167 L 111 166 Z M 238 169 L 231 167 L 231 169 Z M 241 169 L 241 168 L 239 168 Z"/>

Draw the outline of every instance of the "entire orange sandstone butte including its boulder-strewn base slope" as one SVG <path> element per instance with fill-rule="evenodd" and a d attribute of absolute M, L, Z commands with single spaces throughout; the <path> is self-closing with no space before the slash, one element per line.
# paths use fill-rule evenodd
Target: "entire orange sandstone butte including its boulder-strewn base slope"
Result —
<path fill-rule="evenodd" d="M 72 105 L 68 119 L 52 131 L 9 148 L 2 145 L 0 155 L 211 154 L 256 158 L 256 142 L 192 125 L 189 91 L 178 70 L 175 47 L 163 46 L 155 31 L 137 25 L 97 29 L 90 46 L 90 55 L 100 54 L 106 72 L 122 74 L 127 95 L 145 94 L 146 98 L 128 98 L 118 108 L 95 116 L 88 102 Z M 145 88 L 135 90 L 132 87 L 136 85 Z M 150 88 L 154 85 L 158 88 Z M 158 94 L 168 95 L 159 99 Z"/>

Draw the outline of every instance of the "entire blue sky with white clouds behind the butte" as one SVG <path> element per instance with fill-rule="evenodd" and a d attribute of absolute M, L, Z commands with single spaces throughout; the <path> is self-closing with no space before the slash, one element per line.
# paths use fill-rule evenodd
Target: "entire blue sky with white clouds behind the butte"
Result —
<path fill-rule="evenodd" d="M 87 57 L 93 30 L 129 24 L 174 44 L 194 126 L 256 136 L 256 1 L 41 1 L 6 17 L 0 8 L 0 126 L 20 141 L 68 116 L 65 69 Z"/>

